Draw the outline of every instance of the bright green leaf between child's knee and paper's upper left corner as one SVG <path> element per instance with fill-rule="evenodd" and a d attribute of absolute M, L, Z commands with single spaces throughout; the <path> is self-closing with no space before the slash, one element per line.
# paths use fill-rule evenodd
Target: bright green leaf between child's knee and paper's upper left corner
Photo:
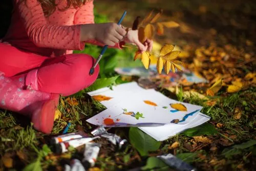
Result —
<path fill-rule="evenodd" d="M 96 79 L 96 81 L 89 88 L 87 88 L 87 90 L 94 91 L 94 90 L 98 90 L 98 89 L 101 89 L 101 88 L 104 88 L 104 87 L 108 87 L 112 83 L 115 82 L 117 77 L 119 77 L 119 75 L 115 76 L 115 77 L 110 77 L 110 78 L 99 78 L 99 79 Z"/>

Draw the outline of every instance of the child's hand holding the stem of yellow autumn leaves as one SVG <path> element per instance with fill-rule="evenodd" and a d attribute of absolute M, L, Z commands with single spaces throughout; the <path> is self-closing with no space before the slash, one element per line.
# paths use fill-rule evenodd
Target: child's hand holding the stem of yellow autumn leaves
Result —
<path fill-rule="evenodd" d="M 143 44 L 139 41 L 138 30 L 129 30 L 124 39 L 126 42 L 135 44 L 141 52 L 151 51 L 153 48 L 153 40 L 146 39 Z"/>

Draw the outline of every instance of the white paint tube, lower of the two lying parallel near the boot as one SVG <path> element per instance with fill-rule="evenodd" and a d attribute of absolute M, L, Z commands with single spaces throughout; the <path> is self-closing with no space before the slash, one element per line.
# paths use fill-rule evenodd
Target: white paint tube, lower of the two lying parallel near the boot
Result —
<path fill-rule="evenodd" d="M 78 138 L 78 139 L 73 139 L 73 140 L 69 140 L 69 141 L 64 141 L 64 142 L 60 142 L 58 144 L 55 144 L 55 152 L 57 154 L 61 154 L 61 153 L 65 153 L 68 151 L 68 148 L 70 146 L 73 147 L 78 147 L 80 145 L 86 144 L 96 138 L 100 138 L 100 137 L 93 137 L 93 138 Z"/>

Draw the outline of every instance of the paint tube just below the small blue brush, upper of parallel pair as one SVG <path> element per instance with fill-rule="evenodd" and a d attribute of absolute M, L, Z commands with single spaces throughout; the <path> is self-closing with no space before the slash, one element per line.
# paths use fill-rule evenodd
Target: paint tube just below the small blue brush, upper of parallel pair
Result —
<path fill-rule="evenodd" d="M 79 131 L 76 133 L 63 134 L 57 137 L 53 137 L 50 143 L 53 145 L 53 144 L 57 144 L 64 141 L 69 141 L 77 138 L 87 138 L 87 137 L 89 136 L 86 133 Z"/>

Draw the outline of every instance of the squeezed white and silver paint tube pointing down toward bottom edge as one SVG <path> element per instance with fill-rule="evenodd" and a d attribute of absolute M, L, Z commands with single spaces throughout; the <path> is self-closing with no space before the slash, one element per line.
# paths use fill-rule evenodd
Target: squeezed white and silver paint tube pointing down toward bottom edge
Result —
<path fill-rule="evenodd" d="M 101 145 L 98 143 L 86 144 L 86 149 L 83 153 L 84 158 L 82 160 L 82 164 L 86 169 L 93 167 L 95 165 L 95 162 L 99 154 L 100 146 Z"/>

